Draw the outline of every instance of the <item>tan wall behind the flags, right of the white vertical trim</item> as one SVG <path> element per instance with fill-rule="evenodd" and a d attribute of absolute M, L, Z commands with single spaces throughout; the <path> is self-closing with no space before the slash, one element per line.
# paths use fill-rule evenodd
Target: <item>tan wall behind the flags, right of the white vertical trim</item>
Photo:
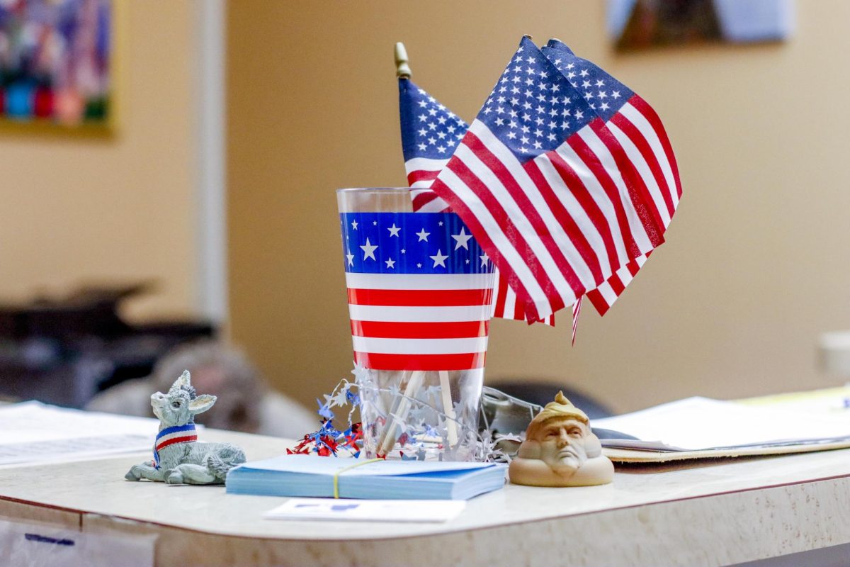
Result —
<path fill-rule="evenodd" d="M 789 43 L 611 53 L 602 2 L 229 4 L 233 336 L 305 401 L 351 367 L 337 187 L 404 184 L 392 47 L 471 120 L 523 33 L 560 37 L 648 99 L 677 150 L 666 244 L 609 315 L 498 321 L 488 377 L 571 383 L 629 410 L 832 383 L 850 325 L 850 3 L 796 3 Z M 313 403 L 313 402 L 310 402 Z"/>

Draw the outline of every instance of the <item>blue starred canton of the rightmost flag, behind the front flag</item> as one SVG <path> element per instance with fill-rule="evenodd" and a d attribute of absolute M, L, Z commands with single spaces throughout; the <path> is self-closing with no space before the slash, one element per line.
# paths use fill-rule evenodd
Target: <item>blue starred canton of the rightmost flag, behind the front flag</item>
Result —
<path fill-rule="evenodd" d="M 542 52 L 605 122 L 634 94 L 597 65 L 576 56 L 564 43 L 549 40 Z"/>

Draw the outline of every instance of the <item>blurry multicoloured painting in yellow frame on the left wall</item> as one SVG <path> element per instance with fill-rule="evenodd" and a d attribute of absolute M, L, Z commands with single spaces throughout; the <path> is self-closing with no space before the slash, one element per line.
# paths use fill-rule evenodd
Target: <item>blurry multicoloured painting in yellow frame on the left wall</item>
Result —
<path fill-rule="evenodd" d="M 111 0 L 0 0 L 0 124 L 111 127 Z"/>

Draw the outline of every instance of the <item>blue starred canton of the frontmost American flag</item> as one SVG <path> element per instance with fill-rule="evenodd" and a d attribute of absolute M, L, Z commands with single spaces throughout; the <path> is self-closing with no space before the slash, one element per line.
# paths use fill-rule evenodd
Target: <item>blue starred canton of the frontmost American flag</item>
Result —
<path fill-rule="evenodd" d="M 478 120 L 525 161 L 554 150 L 596 117 L 553 63 L 523 38 Z"/>

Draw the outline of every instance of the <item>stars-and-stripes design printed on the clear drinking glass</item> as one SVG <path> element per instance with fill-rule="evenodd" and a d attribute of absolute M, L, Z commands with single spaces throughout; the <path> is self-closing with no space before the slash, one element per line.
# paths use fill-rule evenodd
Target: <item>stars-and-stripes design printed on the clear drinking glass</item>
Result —
<path fill-rule="evenodd" d="M 484 366 L 493 263 L 455 213 L 342 213 L 354 361 Z"/>

